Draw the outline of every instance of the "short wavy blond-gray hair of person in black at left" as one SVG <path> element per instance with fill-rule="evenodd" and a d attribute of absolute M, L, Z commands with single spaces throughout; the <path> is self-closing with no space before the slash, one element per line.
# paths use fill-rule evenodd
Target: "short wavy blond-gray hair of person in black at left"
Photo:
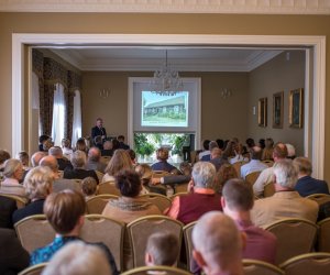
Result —
<path fill-rule="evenodd" d="M 29 170 L 24 187 L 30 199 L 44 199 L 53 189 L 54 174 L 48 167 L 35 167 Z"/>

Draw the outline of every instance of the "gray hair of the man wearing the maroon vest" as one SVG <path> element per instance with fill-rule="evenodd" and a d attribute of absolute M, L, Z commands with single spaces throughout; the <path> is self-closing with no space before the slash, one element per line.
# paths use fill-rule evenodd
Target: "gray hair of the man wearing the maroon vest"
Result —
<path fill-rule="evenodd" d="M 216 177 L 216 167 L 209 162 L 198 162 L 193 167 L 191 177 L 196 187 L 212 188 Z"/>

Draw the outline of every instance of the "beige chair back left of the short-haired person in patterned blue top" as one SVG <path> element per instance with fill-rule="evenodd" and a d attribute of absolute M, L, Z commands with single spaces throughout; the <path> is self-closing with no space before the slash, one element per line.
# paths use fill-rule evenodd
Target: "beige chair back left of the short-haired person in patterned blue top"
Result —
<path fill-rule="evenodd" d="M 30 254 L 50 244 L 55 238 L 55 231 L 44 215 L 30 216 L 16 222 L 14 228 L 22 246 Z"/>

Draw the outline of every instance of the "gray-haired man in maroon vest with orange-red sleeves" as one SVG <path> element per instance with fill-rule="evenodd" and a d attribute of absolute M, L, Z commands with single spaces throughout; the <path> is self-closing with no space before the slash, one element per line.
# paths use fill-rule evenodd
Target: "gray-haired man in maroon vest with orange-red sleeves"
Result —
<path fill-rule="evenodd" d="M 222 211 L 220 195 L 213 190 L 216 168 L 208 162 L 198 162 L 193 167 L 190 193 L 174 198 L 165 213 L 185 224 L 198 220 L 211 210 Z"/>

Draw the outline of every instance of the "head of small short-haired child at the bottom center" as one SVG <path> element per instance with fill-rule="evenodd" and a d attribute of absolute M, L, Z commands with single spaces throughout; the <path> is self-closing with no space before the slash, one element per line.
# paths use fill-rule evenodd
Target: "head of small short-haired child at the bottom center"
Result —
<path fill-rule="evenodd" d="M 145 249 L 145 265 L 167 265 L 175 266 L 179 243 L 175 234 L 168 232 L 157 232 L 147 239 Z"/>

